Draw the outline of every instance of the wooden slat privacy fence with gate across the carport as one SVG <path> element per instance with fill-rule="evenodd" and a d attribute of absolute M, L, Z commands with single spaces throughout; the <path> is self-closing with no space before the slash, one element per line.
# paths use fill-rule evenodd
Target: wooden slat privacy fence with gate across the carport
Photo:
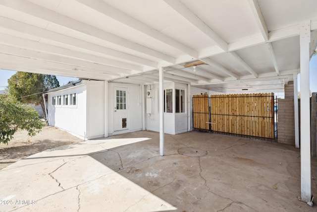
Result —
<path fill-rule="evenodd" d="M 202 101 L 202 95 L 194 97 L 193 118 L 197 119 L 193 120 L 194 129 L 274 139 L 273 93 L 211 95 L 210 101 Z M 206 108 L 209 118 L 200 120 L 199 114 L 205 114 Z M 214 124 L 204 125 L 204 122 Z"/>

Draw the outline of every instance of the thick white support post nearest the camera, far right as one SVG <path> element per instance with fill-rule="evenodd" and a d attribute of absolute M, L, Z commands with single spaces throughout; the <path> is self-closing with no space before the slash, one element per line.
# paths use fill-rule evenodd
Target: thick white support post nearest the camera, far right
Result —
<path fill-rule="evenodd" d="M 311 41 L 310 22 L 300 27 L 300 68 L 301 68 L 301 196 L 310 202 L 311 191 L 311 132 L 310 132 L 310 91 L 309 91 L 309 44 Z"/>

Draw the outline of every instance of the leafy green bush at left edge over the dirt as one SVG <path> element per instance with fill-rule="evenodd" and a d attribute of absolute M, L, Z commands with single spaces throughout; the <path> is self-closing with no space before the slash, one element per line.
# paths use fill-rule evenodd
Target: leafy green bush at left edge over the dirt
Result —
<path fill-rule="evenodd" d="M 18 129 L 35 136 L 44 126 L 38 116 L 34 108 L 21 104 L 12 96 L 0 95 L 0 143 L 7 144 Z"/>

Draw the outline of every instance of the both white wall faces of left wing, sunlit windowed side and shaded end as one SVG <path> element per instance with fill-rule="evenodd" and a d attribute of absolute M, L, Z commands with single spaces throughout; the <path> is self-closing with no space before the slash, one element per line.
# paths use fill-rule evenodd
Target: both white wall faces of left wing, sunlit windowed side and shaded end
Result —
<path fill-rule="evenodd" d="M 53 96 L 76 93 L 76 105 L 52 105 Z M 68 97 L 69 98 L 69 97 Z M 82 80 L 82 84 L 48 93 L 49 125 L 83 139 L 105 135 L 105 82 Z"/>

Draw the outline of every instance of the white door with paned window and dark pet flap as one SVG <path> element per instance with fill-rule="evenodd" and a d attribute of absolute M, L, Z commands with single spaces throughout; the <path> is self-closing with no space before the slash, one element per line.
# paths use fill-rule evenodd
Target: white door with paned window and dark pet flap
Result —
<path fill-rule="evenodd" d="M 129 129 L 128 88 L 114 87 L 113 129 Z"/>

